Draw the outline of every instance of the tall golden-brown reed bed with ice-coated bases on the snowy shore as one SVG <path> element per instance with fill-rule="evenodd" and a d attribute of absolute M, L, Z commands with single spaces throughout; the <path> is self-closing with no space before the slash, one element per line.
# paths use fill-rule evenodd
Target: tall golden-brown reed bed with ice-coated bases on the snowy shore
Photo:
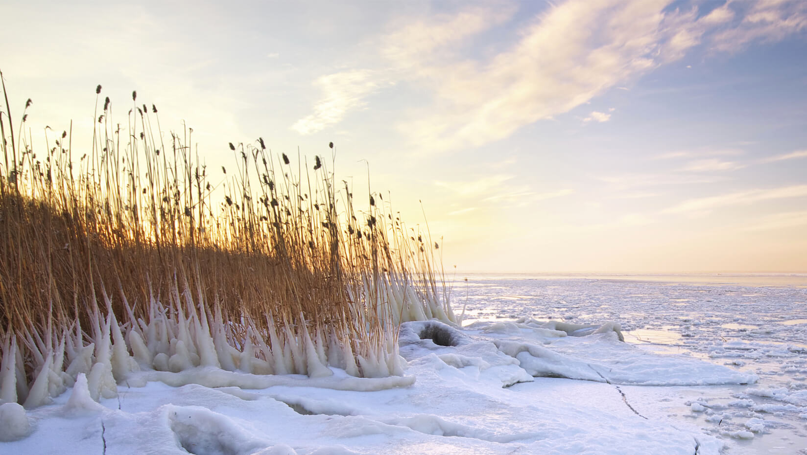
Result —
<path fill-rule="evenodd" d="M 324 157 L 258 139 L 214 172 L 134 92 L 115 123 L 101 86 L 90 149 L 71 126 L 35 151 L 31 100 L 15 122 L 2 89 L 0 403 L 48 403 L 79 374 L 111 397 L 148 369 L 400 375 L 401 322 L 456 322 L 428 230 L 370 190 L 355 208 Z"/>

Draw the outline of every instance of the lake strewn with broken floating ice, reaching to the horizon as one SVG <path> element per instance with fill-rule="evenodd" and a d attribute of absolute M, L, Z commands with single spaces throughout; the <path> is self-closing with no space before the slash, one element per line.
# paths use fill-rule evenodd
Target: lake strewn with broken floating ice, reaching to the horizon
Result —
<path fill-rule="evenodd" d="M 727 453 L 807 453 L 805 274 L 471 274 L 467 284 L 455 283 L 454 306 L 466 304 L 466 325 L 616 321 L 641 349 L 756 374 L 753 386 L 621 388 L 642 414 L 699 428 L 725 440 Z M 736 437 L 750 427 L 760 431 Z"/>

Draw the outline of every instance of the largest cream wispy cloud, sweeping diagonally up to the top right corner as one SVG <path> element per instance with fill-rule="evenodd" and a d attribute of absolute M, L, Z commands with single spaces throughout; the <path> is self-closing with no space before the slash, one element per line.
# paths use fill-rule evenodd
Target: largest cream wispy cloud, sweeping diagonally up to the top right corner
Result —
<path fill-rule="evenodd" d="M 707 44 L 733 52 L 759 40 L 781 40 L 807 27 L 807 2 L 726 2 L 669 8 L 668 0 L 568 0 L 516 30 L 507 47 L 465 52 L 483 33 L 512 19 L 519 3 L 459 6 L 444 15 L 398 18 L 367 47 L 366 68 L 336 73 L 317 85 L 324 98 L 295 123 L 301 132 L 337 123 L 384 84 L 412 82 L 431 96 L 407 111 L 399 131 L 431 150 L 489 144 L 527 124 L 553 119 L 625 81 L 678 61 Z M 479 48 L 479 46 L 475 46 Z M 348 77 L 349 75 L 349 77 Z M 334 77 L 335 81 L 328 78 Z M 584 123 L 605 122 L 592 111 Z"/>

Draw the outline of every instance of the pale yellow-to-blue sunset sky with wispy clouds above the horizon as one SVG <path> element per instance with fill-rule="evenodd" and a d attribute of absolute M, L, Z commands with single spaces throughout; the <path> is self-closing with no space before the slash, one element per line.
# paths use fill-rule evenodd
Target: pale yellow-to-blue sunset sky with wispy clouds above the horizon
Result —
<path fill-rule="evenodd" d="M 19 121 L 92 135 L 95 86 L 332 157 L 466 272 L 807 272 L 807 2 L 0 6 Z M 117 104 L 116 104 L 117 103 Z M 0 101 L 3 109 L 5 102 Z M 81 133 L 80 131 L 84 131 Z M 89 139 L 88 139 L 89 141 Z M 40 144 L 41 143 L 41 144 Z M 425 218 L 424 218 L 425 215 Z"/>

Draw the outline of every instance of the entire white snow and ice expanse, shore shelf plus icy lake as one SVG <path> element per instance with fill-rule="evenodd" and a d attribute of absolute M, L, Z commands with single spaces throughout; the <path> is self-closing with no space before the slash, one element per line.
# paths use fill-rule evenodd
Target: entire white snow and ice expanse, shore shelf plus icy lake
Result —
<path fill-rule="evenodd" d="M 465 328 L 403 324 L 402 377 L 79 374 L 0 406 L 0 453 L 807 453 L 801 283 L 472 277 Z"/>

